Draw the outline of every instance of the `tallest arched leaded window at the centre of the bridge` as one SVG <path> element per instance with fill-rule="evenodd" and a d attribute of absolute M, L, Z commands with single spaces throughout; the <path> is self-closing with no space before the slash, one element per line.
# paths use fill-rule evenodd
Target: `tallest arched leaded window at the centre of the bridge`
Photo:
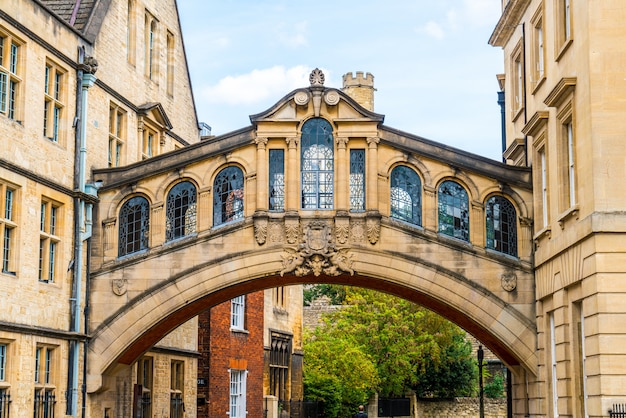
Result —
<path fill-rule="evenodd" d="M 334 186 L 333 128 L 324 119 L 302 127 L 302 209 L 332 209 Z"/>

